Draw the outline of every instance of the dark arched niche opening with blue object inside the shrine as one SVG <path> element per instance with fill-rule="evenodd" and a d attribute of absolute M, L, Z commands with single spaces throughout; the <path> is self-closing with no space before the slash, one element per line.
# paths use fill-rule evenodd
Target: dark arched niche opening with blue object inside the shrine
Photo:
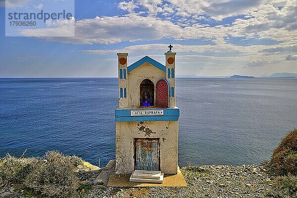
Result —
<path fill-rule="evenodd" d="M 145 79 L 140 84 L 140 106 L 153 106 L 154 102 L 153 83 Z"/>

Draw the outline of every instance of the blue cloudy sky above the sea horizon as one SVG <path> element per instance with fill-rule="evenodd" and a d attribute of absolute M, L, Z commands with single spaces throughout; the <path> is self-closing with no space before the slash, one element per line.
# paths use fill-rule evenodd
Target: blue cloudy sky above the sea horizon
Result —
<path fill-rule="evenodd" d="M 177 75 L 297 73 L 297 0 L 75 0 L 74 6 L 74 18 L 7 37 L 0 0 L 0 77 L 116 77 L 117 52 L 129 53 L 128 65 L 146 55 L 165 64 L 169 44 Z M 70 23 L 74 36 L 51 36 L 67 35 Z"/>

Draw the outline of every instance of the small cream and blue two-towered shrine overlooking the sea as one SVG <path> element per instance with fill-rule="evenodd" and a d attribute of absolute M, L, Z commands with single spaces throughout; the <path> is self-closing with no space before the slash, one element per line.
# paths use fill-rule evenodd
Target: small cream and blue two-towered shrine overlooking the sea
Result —
<path fill-rule="evenodd" d="M 175 104 L 175 56 L 165 63 L 145 56 L 128 66 L 128 53 L 117 53 L 119 105 L 116 121 L 116 174 L 131 182 L 162 183 L 178 171 L 178 119 Z"/>

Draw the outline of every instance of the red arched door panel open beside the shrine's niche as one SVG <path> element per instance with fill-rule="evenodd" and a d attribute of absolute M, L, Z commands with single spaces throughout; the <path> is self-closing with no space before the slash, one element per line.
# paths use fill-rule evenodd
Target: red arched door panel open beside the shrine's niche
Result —
<path fill-rule="evenodd" d="M 157 83 L 157 99 L 156 106 L 166 107 L 169 106 L 169 85 L 166 80 L 159 80 Z"/>

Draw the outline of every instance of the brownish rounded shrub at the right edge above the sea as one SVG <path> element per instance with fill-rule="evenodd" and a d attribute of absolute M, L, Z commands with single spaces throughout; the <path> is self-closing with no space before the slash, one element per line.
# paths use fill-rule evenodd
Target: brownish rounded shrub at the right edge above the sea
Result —
<path fill-rule="evenodd" d="M 297 175 L 297 129 L 290 131 L 274 149 L 271 169 L 277 175 Z"/>

